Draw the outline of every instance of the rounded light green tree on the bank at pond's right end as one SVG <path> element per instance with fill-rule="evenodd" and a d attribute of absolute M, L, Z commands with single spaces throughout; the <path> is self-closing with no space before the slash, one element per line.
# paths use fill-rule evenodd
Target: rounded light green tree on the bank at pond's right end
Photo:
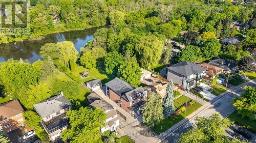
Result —
<path fill-rule="evenodd" d="M 109 13 L 109 18 L 110 18 L 110 23 L 112 25 L 124 25 L 125 24 L 125 22 L 124 22 L 125 14 L 120 11 L 112 10 Z"/>

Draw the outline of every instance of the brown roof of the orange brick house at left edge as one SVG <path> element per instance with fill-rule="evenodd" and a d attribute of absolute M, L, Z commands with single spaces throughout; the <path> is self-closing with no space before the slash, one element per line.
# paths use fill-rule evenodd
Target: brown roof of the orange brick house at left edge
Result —
<path fill-rule="evenodd" d="M 13 100 L 0 104 L 0 120 L 4 118 L 11 118 L 24 111 L 22 105 L 18 100 Z"/>

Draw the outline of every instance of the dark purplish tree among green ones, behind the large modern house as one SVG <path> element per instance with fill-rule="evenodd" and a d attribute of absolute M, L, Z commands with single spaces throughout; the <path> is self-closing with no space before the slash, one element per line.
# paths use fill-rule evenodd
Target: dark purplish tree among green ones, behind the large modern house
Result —
<path fill-rule="evenodd" d="M 196 32 L 187 32 L 183 35 L 183 43 L 185 45 L 198 45 L 200 43 L 199 34 Z"/>

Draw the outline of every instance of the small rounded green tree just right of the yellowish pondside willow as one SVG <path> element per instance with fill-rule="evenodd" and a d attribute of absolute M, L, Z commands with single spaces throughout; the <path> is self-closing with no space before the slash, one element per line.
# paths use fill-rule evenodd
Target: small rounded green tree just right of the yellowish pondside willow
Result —
<path fill-rule="evenodd" d="M 84 68 L 92 69 L 96 67 L 96 58 L 91 51 L 84 52 L 80 58 L 80 63 Z"/>

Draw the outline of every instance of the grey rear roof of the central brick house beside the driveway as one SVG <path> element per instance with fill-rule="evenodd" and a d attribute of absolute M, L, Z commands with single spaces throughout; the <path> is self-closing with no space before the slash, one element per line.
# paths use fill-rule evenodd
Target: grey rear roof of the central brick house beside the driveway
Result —
<path fill-rule="evenodd" d="M 126 92 L 129 92 L 135 89 L 131 84 L 121 80 L 118 77 L 109 81 L 108 83 L 105 83 L 105 85 L 120 96 L 122 96 Z"/>

